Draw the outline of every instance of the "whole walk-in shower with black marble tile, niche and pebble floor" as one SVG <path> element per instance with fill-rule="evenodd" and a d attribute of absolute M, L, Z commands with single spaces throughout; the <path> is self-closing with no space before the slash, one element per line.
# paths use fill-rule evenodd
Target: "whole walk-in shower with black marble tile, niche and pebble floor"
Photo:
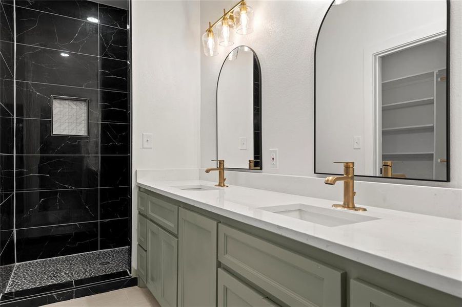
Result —
<path fill-rule="evenodd" d="M 134 285 L 129 2 L 0 10 L 0 304 Z"/>

